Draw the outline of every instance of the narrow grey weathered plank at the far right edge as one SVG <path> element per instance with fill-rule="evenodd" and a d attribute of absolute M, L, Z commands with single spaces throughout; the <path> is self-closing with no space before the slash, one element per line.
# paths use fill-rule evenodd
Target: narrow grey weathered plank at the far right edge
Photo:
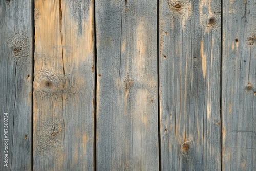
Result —
<path fill-rule="evenodd" d="M 223 1 L 222 166 L 256 167 L 256 3 Z"/>

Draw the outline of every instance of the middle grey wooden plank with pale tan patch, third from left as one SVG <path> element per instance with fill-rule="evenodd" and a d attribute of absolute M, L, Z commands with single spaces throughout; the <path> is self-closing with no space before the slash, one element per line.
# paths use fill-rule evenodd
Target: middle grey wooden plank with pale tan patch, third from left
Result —
<path fill-rule="evenodd" d="M 97 170 L 158 170 L 157 1 L 95 4 Z"/>

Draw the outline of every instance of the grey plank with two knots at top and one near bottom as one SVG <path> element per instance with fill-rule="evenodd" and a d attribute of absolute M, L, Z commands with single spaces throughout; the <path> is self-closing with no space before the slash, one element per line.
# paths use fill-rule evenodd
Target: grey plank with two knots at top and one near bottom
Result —
<path fill-rule="evenodd" d="M 220 170 L 220 0 L 159 2 L 162 170 Z"/>

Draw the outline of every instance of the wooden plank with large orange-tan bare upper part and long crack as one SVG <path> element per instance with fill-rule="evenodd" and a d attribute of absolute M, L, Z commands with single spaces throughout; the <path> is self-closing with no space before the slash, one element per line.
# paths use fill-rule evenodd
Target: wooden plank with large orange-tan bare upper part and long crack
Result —
<path fill-rule="evenodd" d="M 35 170 L 94 169 L 93 4 L 35 1 Z"/>

